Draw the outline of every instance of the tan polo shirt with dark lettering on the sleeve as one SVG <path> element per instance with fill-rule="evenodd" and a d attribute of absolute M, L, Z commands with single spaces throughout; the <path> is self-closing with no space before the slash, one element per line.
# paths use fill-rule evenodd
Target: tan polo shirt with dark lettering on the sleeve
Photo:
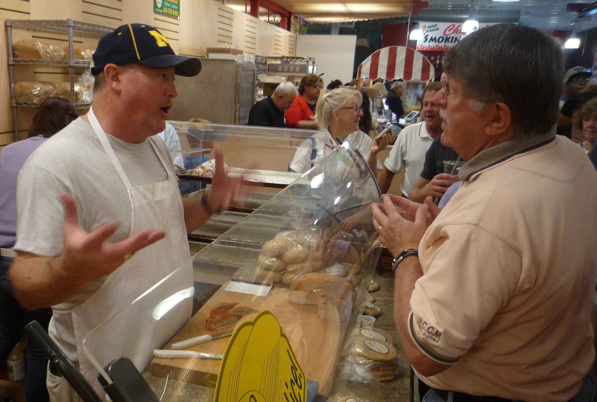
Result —
<path fill-rule="evenodd" d="M 473 157 L 421 239 L 410 304 L 440 389 L 567 401 L 595 358 L 597 172 L 553 133 Z M 496 148 L 496 147 L 494 147 Z"/>

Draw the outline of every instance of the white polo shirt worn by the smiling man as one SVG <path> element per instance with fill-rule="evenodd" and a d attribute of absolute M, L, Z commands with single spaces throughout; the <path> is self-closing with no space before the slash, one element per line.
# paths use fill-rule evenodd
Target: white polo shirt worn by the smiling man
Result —
<path fill-rule="evenodd" d="M 402 129 L 387 155 L 383 163 L 387 170 L 398 174 L 404 167 L 404 179 L 400 186 L 404 196 L 408 197 L 417 183 L 425 165 L 425 154 L 432 143 L 433 138 L 429 136 L 425 122 L 411 124 Z"/>

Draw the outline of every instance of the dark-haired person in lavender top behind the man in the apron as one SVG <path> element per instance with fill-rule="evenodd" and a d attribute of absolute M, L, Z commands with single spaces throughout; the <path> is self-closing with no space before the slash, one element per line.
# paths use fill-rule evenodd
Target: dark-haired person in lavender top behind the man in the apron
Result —
<path fill-rule="evenodd" d="M 12 250 L 17 232 L 17 177 L 25 160 L 42 143 L 78 117 L 75 107 L 62 98 L 50 97 L 39 105 L 29 129 L 29 138 L 9 144 L 0 153 L 0 366 L 23 336 L 23 327 L 37 320 L 48 329 L 52 309 L 23 310 L 8 282 L 8 268 L 16 253 Z M 48 358 L 27 338 L 27 401 L 48 401 L 45 385 Z"/>

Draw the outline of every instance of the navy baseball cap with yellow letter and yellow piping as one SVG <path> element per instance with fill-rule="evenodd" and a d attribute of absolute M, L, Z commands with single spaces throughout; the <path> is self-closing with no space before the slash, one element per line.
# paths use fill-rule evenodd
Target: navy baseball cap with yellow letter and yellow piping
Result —
<path fill-rule="evenodd" d="M 93 53 L 91 74 L 103 72 L 110 63 L 116 66 L 139 63 L 158 69 L 175 67 L 174 74 L 184 77 L 198 75 L 201 71 L 198 58 L 177 55 L 164 35 L 146 24 L 122 25 L 102 36 Z"/>

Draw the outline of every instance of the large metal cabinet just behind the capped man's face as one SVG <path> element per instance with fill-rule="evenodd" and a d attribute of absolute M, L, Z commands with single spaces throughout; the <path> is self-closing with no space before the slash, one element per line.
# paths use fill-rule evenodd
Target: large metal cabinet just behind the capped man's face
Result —
<path fill-rule="evenodd" d="M 254 103 L 255 64 L 247 61 L 201 59 L 201 73 L 177 77 L 178 97 L 170 118 L 188 121 L 195 117 L 212 123 L 246 125 Z"/>

